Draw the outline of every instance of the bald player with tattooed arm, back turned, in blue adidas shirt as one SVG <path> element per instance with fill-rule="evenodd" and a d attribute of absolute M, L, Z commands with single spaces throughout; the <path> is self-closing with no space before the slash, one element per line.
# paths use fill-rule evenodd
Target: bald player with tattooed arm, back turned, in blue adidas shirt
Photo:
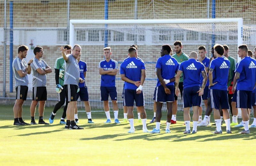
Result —
<path fill-rule="evenodd" d="M 193 108 L 193 130 L 192 134 L 197 132 L 197 121 L 199 117 L 198 108 L 202 103 L 202 95 L 204 94 L 204 87 L 207 82 L 207 74 L 203 63 L 196 61 L 197 53 L 192 51 L 189 55 L 189 60 L 180 63 L 180 68 L 175 77 L 175 94 L 179 95 L 180 90 L 179 80 L 183 73 L 183 106 L 184 106 L 184 121 L 186 130 L 184 134 L 190 134 L 190 115 L 189 109 Z M 203 76 L 202 87 L 200 87 L 200 74 Z"/>

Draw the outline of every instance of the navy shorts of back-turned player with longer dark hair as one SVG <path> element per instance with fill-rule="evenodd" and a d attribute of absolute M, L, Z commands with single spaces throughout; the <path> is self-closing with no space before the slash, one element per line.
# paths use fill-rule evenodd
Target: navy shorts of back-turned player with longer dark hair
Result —
<path fill-rule="evenodd" d="M 212 108 L 219 110 L 229 109 L 227 90 L 210 89 Z"/>

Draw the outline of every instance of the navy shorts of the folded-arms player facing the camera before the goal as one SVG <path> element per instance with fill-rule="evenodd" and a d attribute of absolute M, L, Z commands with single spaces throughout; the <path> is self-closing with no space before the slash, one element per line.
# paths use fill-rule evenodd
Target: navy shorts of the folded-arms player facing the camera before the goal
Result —
<path fill-rule="evenodd" d="M 108 96 L 111 100 L 117 100 L 117 92 L 115 86 L 100 86 L 100 101 L 107 101 Z"/>

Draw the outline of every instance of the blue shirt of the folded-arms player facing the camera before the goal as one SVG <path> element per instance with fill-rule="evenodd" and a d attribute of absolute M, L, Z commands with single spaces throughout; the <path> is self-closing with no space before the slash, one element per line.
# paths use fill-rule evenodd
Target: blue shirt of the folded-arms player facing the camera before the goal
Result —
<path fill-rule="evenodd" d="M 112 69 L 118 69 L 117 61 L 110 59 L 110 61 L 100 61 L 99 68 L 103 68 L 104 70 L 112 70 Z M 108 74 L 101 75 L 101 83 L 100 86 L 116 86 L 116 76 L 111 76 Z"/>

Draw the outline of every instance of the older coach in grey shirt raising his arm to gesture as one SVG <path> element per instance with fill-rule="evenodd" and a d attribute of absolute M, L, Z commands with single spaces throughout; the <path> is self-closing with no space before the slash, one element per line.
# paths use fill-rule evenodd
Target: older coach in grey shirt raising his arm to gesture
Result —
<path fill-rule="evenodd" d="M 68 109 L 67 109 L 67 123 L 66 129 L 84 129 L 75 122 L 75 107 L 76 107 L 76 93 L 79 91 L 78 83 L 83 83 L 84 80 L 80 78 L 80 70 L 77 57 L 81 54 L 81 46 L 75 45 L 72 49 L 72 54 L 66 55 L 65 50 L 62 46 L 60 48 L 62 56 L 65 60 L 65 79 L 64 88 L 66 97 L 68 98 Z"/>

